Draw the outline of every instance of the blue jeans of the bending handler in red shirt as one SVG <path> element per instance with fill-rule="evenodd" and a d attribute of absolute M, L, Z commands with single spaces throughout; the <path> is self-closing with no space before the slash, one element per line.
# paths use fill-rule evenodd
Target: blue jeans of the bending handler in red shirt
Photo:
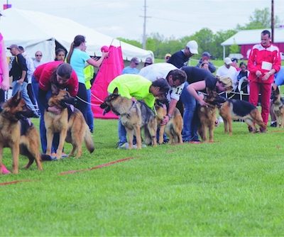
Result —
<path fill-rule="evenodd" d="M 35 94 L 35 99 L 38 101 L 38 109 L 40 109 L 40 143 L 41 148 L 43 150 L 43 153 L 46 153 L 46 146 L 47 146 L 47 140 L 46 140 L 46 129 L 45 129 L 45 122 L 44 122 L 44 113 L 45 113 L 45 107 L 43 104 L 40 103 L 38 99 L 38 82 L 34 77 L 31 79 L 31 84 L 33 86 L 33 93 Z M 51 92 L 48 92 L 46 95 L 46 99 L 49 99 L 51 97 Z M 53 136 L 53 145 L 51 147 L 51 153 L 56 153 L 56 150 L 58 149 L 59 144 L 59 133 L 55 133 Z"/>

